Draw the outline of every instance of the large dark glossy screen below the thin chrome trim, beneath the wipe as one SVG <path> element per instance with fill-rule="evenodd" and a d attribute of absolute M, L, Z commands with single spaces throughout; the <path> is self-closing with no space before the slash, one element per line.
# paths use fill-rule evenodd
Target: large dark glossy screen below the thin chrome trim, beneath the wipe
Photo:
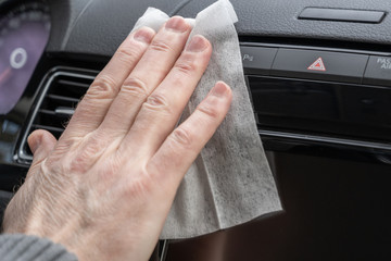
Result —
<path fill-rule="evenodd" d="M 391 166 L 268 156 L 285 212 L 171 241 L 166 261 L 390 260 Z"/>

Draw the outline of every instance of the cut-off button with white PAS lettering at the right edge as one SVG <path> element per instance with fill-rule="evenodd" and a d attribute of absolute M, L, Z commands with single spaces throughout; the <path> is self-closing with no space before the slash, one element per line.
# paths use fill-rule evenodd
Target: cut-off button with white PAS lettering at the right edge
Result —
<path fill-rule="evenodd" d="M 391 86 L 391 57 L 370 57 L 363 83 Z"/>

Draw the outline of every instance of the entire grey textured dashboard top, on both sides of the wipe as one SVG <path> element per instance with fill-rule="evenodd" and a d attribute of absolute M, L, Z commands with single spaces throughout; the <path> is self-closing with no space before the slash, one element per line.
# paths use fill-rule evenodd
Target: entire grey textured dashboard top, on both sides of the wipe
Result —
<path fill-rule="evenodd" d="M 188 2 L 188 3 L 187 3 Z M 148 7 L 167 13 L 184 5 L 177 14 L 194 15 L 214 0 L 52 0 L 53 34 L 51 52 L 110 57 Z M 308 7 L 391 12 L 388 0 L 232 0 L 239 16 L 240 36 L 344 40 L 391 44 L 391 20 L 380 24 L 299 20 Z"/>

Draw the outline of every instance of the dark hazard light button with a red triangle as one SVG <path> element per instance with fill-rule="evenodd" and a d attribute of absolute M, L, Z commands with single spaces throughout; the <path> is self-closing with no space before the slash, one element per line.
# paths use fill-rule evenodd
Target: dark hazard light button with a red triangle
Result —
<path fill-rule="evenodd" d="M 279 49 L 270 74 L 361 84 L 368 58 L 343 52 Z"/>

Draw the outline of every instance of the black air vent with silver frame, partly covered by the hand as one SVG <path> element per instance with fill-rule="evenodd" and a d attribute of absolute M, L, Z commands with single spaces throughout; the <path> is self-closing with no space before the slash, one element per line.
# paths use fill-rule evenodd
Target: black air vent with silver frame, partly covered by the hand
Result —
<path fill-rule="evenodd" d="M 43 91 L 39 96 L 29 124 L 18 150 L 18 159 L 24 163 L 33 160 L 27 137 L 36 129 L 46 129 L 59 138 L 74 110 L 91 85 L 97 72 L 84 70 L 56 70 L 43 80 Z"/>

